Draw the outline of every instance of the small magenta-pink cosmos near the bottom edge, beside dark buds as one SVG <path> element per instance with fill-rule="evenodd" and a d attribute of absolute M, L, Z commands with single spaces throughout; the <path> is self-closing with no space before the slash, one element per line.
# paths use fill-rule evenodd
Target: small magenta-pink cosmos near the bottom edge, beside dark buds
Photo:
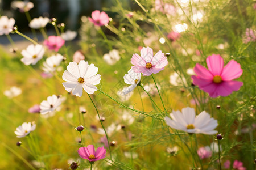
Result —
<path fill-rule="evenodd" d="M 80 147 L 77 151 L 79 156 L 83 159 L 89 160 L 89 162 L 94 162 L 106 157 L 106 150 L 104 147 L 98 147 L 96 152 L 93 145 L 88 145 L 87 147 Z"/>

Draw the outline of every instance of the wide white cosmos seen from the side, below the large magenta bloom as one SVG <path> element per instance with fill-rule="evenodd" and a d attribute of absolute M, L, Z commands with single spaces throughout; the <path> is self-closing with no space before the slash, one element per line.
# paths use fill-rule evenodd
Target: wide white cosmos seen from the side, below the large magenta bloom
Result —
<path fill-rule="evenodd" d="M 177 130 L 183 130 L 187 133 L 203 133 L 203 134 L 216 134 L 214 130 L 217 126 L 217 120 L 211 118 L 210 115 L 203 111 L 198 116 L 195 114 L 193 108 L 183 108 L 182 113 L 180 111 L 172 111 L 170 117 L 164 117 L 166 124 L 171 128 Z"/>

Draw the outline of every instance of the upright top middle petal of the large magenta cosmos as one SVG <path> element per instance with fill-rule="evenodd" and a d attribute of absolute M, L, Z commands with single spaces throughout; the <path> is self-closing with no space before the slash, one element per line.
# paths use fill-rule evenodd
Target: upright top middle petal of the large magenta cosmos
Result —
<path fill-rule="evenodd" d="M 214 75 L 221 75 L 224 61 L 220 55 L 212 54 L 212 56 L 208 56 L 207 59 L 207 66 L 209 71 Z"/>

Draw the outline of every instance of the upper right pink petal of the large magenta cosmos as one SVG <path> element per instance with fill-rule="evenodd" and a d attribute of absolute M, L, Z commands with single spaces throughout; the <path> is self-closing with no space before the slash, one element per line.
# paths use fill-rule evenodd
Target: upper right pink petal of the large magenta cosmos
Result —
<path fill-rule="evenodd" d="M 241 66 L 234 60 L 229 61 L 229 63 L 224 67 L 221 74 L 221 78 L 224 81 L 230 81 L 240 77 L 243 73 Z"/>

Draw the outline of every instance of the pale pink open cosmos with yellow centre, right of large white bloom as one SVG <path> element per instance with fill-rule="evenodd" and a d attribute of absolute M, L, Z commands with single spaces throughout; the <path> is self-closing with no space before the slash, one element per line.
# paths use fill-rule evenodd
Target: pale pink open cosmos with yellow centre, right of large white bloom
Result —
<path fill-rule="evenodd" d="M 141 56 L 138 54 L 133 54 L 131 58 L 131 68 L 136 73 L 142 73 L 143 76 L 151 75 L 152 73 L 156 74 L 159 71 L 163 70 L 164 67 L 168 64 L 167 57 L 164 56 L 162 51 L 159 51 L 153 57 L 152 48 L 143 48 L 141 50 Z"/>

